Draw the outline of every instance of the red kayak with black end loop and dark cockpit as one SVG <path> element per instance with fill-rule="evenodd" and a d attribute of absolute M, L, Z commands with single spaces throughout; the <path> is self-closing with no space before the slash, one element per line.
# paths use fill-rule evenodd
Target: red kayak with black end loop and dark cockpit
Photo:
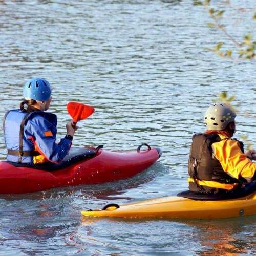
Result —
<path fill-rule="evenodd" d="M 147 145 L 147 144 L 142 144 Z M 61 186 L 97 184 L 131 177 L 161 156 L 160 148 L 106 151 L 102 146 L 71 147 L 60 164 L 0 162 L 0 194 L 22 194 Z"/>

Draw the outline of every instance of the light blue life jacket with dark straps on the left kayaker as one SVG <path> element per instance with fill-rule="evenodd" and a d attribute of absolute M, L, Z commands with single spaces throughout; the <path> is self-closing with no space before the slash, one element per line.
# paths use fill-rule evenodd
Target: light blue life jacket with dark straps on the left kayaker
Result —
<path fill-rule="evenodd" d="M 31 138 L 24 136 L 24 127 L 27 121 L 34 115 L 42 115 L 44 118 L 57 125 L 54 114 L 41 111 L 27 112 L 22 110 L 10 110 L 4 117 L 4 136 L 7 147 L 7 160 L 16 163 L 33 164 L 33 157 L 40 155 L 35 151 Z"/>

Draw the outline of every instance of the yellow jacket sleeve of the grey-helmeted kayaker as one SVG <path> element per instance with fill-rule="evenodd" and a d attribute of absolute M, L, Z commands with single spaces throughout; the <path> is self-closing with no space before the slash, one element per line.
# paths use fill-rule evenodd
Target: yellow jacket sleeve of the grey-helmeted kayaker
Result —
<path fill-rule="evenodd" d="M 223 170 L 233 178 L 243 177 L 251 182 L 256 163 L 253 163 L 240 149 L 239 142 L 224 139 L 212 144 L 214 156 L 220 161 Z"/>

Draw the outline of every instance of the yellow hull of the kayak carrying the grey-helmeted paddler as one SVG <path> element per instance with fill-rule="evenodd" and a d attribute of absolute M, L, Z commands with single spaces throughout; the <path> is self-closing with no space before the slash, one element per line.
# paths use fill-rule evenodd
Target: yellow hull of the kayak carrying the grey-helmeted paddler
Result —
<path fill-rule="evenodd" d="M 121 218 L 221 219 L 256 214 L 256 192 L 238 199 L 199 201 L 170 196 L 105 210 L 81 211 L 84 216 Z"/>

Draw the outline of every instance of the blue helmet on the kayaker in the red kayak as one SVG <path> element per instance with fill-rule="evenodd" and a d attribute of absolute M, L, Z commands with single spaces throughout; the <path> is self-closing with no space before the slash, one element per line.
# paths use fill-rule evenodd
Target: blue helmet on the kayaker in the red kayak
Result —
<path fill-rule="evenodd" d="M 25 99 L 46 101 L 50 98 L 52 89 L 50 83 L 44 78 L 32 78 L 23 88 Z"/>

